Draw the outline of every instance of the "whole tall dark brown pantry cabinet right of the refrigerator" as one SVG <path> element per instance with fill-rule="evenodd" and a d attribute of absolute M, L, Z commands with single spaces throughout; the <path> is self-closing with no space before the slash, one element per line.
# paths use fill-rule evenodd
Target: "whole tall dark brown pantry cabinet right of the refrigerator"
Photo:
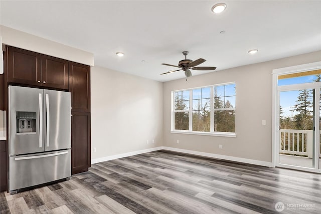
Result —
<path fill-rule="evenodd" d="M 90 66 L 69 62 L 71 92 L 71 173 L 90 167 Z"/>

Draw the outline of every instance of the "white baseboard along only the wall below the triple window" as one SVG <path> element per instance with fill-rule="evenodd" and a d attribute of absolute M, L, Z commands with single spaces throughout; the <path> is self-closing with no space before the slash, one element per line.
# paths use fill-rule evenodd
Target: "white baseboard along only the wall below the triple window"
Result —
<path fill-rule="evenodd" d="M 183 152 L 187 154 L 195 154 L 200 155 L 204 157 L 213 157 L 217 159 L 223 159 L 223 160 L 231 160 L 241 163 L 249 163 L 254 165 L 260 165 L 260 166 L 268 166 L 272 167 L 271 162 L 261 161 L 261 160 L 253 160 L 253 159 L 247 159 L 242 157 L 233 157 L 233 156 L 227 156 L 227 155 L 221 155 L 221 154 L 213 154 L 213 153 L 207 153 L 207 152 L 200 152 L 200 151 L 193 151 L 193 150 L 187 150 L 187 149 L 179 149 L 179 148 L 173 148 L 173 147 L 167 147 L 163 146 L 163 149 L 170 150 L 170 151 L 177 151 L 177 152 Z"/>

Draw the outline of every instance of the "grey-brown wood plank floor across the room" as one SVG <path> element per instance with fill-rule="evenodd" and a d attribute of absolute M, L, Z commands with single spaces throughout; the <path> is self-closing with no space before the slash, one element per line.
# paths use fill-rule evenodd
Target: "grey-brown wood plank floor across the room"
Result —
<path fill-rule="evenodd" d="M 92 164 L 68 181 L 2 192 L 0 212 L 279 213 L 276 202 L 285 205 L 280 213 L 321 213 L 321 175 L 161 150 Z"/>

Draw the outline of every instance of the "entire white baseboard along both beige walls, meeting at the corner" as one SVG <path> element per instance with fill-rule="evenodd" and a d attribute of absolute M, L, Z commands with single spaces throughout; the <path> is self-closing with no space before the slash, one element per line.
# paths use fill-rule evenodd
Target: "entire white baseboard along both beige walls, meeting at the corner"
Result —
<path fill-rule="evenodd" d="M 241 162 L 241 163 L 249 163 L 249 164 L 254 164 L 254 165 L 273 167 L 272 163 L 267 162 L 267 161 L 253 160 L 253 159 L 247 159 L 247 158 L 242 158 L 242 157 L 233 157 L 233 156 L 213 154 L 213 153 L 200 152 L 200 151 L 193 151 L 193 150 L 187 150 L 187 149 L 179 149 L 179 148 L 173 148 L 173 147 L 167 147 L 167 146 L 158 146 L 158 147 L 149 148 L 149 149 L 143 149 L 143 150 L 132 151 L 132 152 L 127 152 L 127 153 L 122 153 L 122 154 L 116 154 L 116 155 L 111 155 L 111 156 L 106 156 L 106 157 L 94 158 L 94 159 L 91 159 L 91 163 L 94 164 L 94 163 L 99 163 L 99 162 L 103 162 L 103 161 L 118 159 L 118 158 L 122 158 L 122 157 L 128 157 L 128 156 L 132 156 L 132 155 L 136 155 L 136 154 L 142 154 L 142 153 L 157 151 L 157 150 L 162 150 L 162 149 L 169 150 L 169 151 L 182 152 L 182 153 L 187 153 L 187 154 L 194 154 L 194 155 L 199 155 L 199 156 L 204 156 L 204 157 L 212 157 L 212 158 L 231 160 L 231 161 L 236 161 L 236 162 Z"/>

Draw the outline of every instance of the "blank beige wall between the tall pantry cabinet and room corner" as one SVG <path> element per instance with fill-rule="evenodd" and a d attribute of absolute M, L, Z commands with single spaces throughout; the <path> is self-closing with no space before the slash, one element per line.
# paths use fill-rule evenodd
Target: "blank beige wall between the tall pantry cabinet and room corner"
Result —
<path fill-rule="evenodd" d="M 92 67 L 92 159 L 162 144 L 163 83 Z"/>

